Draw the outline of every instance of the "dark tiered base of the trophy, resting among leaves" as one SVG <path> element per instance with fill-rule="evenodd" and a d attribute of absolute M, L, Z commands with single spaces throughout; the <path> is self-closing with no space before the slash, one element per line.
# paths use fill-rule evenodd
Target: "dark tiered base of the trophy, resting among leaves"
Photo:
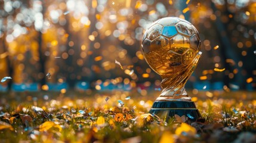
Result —
<path fill-rule="evenodd" d="M 149 113 L 156 114 L 165 122 L 174 118 L 175 114 L 180 117 L 184 115 L 189 122 L 195 122 L 201 117 L 193 101 L 155 101 Z"/>

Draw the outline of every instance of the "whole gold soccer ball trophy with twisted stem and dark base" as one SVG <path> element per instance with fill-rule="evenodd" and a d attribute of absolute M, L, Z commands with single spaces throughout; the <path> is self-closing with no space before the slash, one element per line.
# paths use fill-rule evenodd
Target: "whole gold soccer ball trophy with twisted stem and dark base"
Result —
<path fill-rule="evenodd" d="M 162 77 L 162 93 L 150 113 L 166 120 L 175 114 L 192 122 L 201 117 L 184 88 L 202 54 L 198 30 L 178 17 L 161 18 L 144 33 L 142 51 L 147 64 Z"/>

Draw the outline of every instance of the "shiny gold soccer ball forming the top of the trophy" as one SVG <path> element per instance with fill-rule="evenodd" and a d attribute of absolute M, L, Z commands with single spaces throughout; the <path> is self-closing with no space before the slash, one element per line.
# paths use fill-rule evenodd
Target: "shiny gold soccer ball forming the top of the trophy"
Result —
<path fill-rule="evenodd" d="M 142 51 L 149 66 L 159 75 L 178 73 L 200 51 L 198 30 L 178 17 L 161 18 L 144 33 Z"/>

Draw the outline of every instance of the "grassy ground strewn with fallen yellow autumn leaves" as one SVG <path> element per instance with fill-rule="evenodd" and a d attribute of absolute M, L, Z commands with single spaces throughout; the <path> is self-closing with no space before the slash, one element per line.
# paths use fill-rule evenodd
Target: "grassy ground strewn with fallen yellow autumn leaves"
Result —
<path fill-rule="evenodd" d="M 136 92 L 1 93 L 0 142 L 255 142 L 256 94 L 235 94 L 194 97 L 202 119 L 188 123 L 148 114 L 156 96 Z"/>

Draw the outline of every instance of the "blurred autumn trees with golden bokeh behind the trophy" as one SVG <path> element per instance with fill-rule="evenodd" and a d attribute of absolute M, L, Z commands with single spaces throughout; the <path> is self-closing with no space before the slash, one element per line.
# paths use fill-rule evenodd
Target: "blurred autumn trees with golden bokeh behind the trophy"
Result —
<path fill-rule="evenodd" d="M 256 89 L 255 0 L 0 0 L 0 91 L 161 90 L 141 39 L 168 16 L 200 34 L 187 88 Z"/>

